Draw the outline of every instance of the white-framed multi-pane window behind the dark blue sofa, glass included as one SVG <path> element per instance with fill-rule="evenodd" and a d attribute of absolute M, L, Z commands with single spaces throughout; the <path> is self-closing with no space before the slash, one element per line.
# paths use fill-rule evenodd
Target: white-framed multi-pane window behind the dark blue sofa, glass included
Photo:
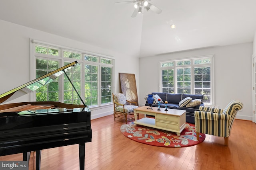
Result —
<path fill-rule="evenodd" d="M 203 94 L 213 104 L 213 57 L 160 62 L 161 90 L 167 93 Z"/>

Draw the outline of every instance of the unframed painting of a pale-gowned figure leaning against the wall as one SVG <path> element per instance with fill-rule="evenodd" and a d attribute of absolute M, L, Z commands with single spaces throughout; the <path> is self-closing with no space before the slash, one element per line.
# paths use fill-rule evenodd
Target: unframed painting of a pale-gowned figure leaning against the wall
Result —
<path fill-rule="evenodd" d="M 122 94 L 126 100 L 138 102 L 135 74 L 119 73 Z"/>

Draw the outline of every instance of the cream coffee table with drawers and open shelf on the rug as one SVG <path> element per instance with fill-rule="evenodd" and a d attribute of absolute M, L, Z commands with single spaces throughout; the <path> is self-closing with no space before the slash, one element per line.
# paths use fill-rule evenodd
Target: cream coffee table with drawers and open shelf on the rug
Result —
<path fill-rule="evenodd" d="M 178 136 L 186 127 L 186 110 L 168 109 L 165 108 L 142 106 L 134 109 L 134 124 L 153 127 L 166 131 L 176 132 Z M 144 114 L 144 117 L 137 119 L 137 114 Z M 155 118 L 146 117 L 146 115 L 155 116 Z"/>

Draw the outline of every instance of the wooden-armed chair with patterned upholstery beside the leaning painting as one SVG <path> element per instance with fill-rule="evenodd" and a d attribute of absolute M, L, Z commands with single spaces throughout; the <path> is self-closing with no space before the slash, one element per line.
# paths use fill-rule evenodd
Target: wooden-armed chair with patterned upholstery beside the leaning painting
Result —
<path fill-rule="evenodd" d="M 133 119 L 133 117 L 127 118 L 127 115 L 134 115 L 135 108 L 138 108 L 138 102 L 131 102 L 126 100 L 126 96 L 122 93 L 113 94 L 114 102 L 114 121 L 116 118 L 124 119 L 125 123 L 127 120 Z"/>

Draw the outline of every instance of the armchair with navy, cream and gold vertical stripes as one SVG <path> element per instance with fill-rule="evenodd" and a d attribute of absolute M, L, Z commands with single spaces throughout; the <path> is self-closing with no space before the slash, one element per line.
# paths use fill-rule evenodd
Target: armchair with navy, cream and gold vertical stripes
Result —
<path fill-rule="evenodd" d="M 194 111 L 196 138 L 199 133 L 224 137 L 224 145 L 228 146 L 228 137 L 238 110 L 243 104 L 238 100 L 231 101 L 225 109 L 200 106 L 199 111 Z"/>

